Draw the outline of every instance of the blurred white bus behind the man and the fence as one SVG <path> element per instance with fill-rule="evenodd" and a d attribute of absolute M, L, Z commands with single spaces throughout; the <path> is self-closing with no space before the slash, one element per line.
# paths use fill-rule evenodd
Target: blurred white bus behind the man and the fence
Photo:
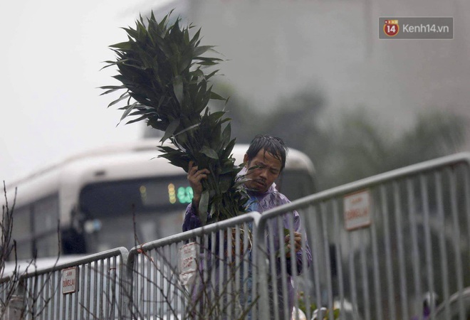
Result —
<path fill-rule="evenodd" d="M 159 144 L 142 139 L 108 146 L 10 183 L 10 195 L 18 188 L 13 239 L 19 259 L 130 249 L 182 232 L 192 189 L 182 169 L 157 157 Z M 247 149 L 234 147 L 236 164 Z M 308 156 L 290 149 L 276 183 L 291 200 L 313 193 Z"/>

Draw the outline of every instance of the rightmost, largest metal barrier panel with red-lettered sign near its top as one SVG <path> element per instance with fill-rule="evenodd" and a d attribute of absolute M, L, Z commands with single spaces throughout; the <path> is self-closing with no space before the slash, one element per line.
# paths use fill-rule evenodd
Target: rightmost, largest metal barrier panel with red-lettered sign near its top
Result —
<path fill-rule="evenodd" d="M 444 302 L 439 319 L 454 319 L 452 309 L 458 309 L 455 319 L 467 319 L 468 302 L 464 306 L 462 297 L 450 306 L 449 298 L 470 286 L 469 164 L 469 154 L 449 156 L 275 208 L 258 221 L 258 243 L 265 243 L 263 250 L 274 246 L 282 251 L 281 223 L 278 228 L 270 224 L 292 210 L 300 213 L 313 263 L 301 275 L 294 273 L 291 282 L 300 295 L 296 306 L 307 306 L 307 319 L 313 304 L 330 311 L 326 319 L 336 319 L 334 309 L 340 319 L 428 319 L 423 317 L 429 312 L 434 319 L 436 304 L 423 310 L 426 293 Z M 266 238 L 267 233 L 276 233 L 279 243 Z M 273 265 L 279 259 L 293 269 L 293 260 L 276 257 L 273 250 L 268 263 L 258 261 L 265 319 L 287 319 L 278 317 L 269 303 L 276 286 L 271 284 L 270 291 L 267 284 L 276 277 Z M 277 294 L 285 297 L 283 280 Z"/>

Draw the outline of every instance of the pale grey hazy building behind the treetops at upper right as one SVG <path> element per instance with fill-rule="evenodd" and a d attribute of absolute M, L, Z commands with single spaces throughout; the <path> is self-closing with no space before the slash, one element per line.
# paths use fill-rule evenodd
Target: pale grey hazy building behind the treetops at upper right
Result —
<path fill-rule="evenodd" d="M 400 127 L 428 108 L 470 116 L 468 1 L 188 1 L 187 19 L 227 61 L 221 81 L 253 108 L 320 91 Z M 452 16 L 453 40 L 379 40 L 380 16 Z M 288 107 L 288 106 L 286 106 Z"/>

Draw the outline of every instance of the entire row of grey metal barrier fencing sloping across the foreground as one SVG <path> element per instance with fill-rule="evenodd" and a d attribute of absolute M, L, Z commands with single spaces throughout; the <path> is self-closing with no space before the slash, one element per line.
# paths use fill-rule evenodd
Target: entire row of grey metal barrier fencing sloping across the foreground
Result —
<path fill-rule="evenodd" d="M 470 154 L 447 156 L 24 274 L 16 294 L 26 319 L 289 319 L 293 305 L 307 319 L 465 320 L 469 181 Z M 63 294 L 71 267 L 78 290 Z"/>

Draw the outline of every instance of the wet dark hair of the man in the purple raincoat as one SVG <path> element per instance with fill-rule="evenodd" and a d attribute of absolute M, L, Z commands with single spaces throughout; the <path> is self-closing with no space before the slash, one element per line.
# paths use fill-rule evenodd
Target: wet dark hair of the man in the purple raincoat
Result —
<path fill-rule="evenodd" d="M 268 152 L 268 154 L 271 154 L 271 156 L 274 158 L 281 161 L 282 171 L 284 166 L 286 166 L 286 157 L 289 151 L 283 140 L 278 137 L 258 134 L 251 141 L 248 151 L 246 151 L 246 154 L 248 155 L 248 161 L 253 160 L 256 154 L 258 154 L 258 152 L 262 149 L 264 149 L 265 152 Z"/>

